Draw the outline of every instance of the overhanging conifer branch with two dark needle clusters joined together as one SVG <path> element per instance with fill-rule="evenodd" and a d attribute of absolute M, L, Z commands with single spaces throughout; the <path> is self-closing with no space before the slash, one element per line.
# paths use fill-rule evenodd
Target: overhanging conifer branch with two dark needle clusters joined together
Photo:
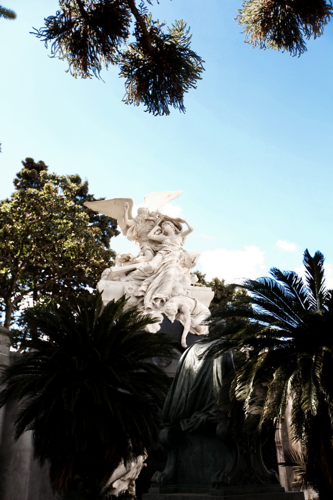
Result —
<path fill-rule="evenodd" d="M 126 78 L 126 103 L 156 115 L 169 114 L 169 106 L 185 111 L 184 93 L 203 67 L 184 21 L 164 32 L 144 1 L 137 7 L 134 0 L 59 0 L 59 6 L 34 33 L 51 44 L 52 57 L 67 60 L 73 76 L 100 77 L 102 66 L 115 65 Z"/>

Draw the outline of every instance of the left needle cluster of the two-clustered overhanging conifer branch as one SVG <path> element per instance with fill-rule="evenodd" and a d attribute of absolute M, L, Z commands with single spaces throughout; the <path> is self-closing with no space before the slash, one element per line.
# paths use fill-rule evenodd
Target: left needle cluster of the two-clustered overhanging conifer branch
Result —
<path fill-rule="evenodd" d="M 115 64 L 117 48 L 129 36 L 130 11 L 122 0 L 65 0 L 35 30 L 52 57 L 66 59 L 73 76 L 99 76 L 102 64 Z"/>

